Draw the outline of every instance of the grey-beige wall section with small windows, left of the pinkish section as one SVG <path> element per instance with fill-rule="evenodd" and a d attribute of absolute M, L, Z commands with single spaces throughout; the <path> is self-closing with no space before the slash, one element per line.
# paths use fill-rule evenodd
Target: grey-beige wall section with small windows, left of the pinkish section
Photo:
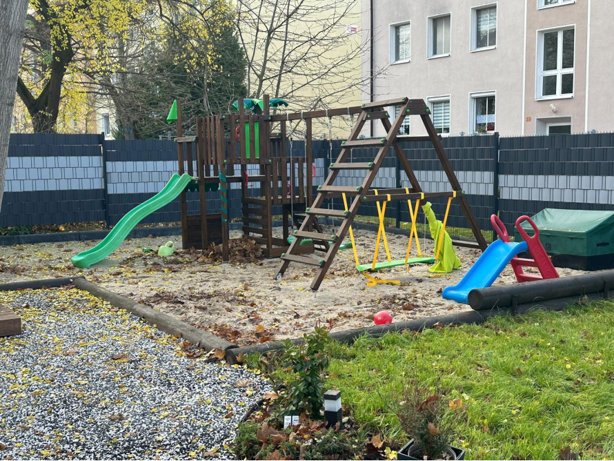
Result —
<path fill-rule="evenodd" d="M 497 46 L 471 52 L 471 8 L 497 3 Z M 519 2 L 518 2 L 519 3 Z M 375 82 L 375 99 L 412 99 L 450 95 L 450 133 L 468 133 L 470 93 L 496 91 L 496 127 L 518 133 L 522 126 L 522 43 L 524 17 L 517 1 L 484 0 L 375 1 L 375 67 L 390 57 L 390 24 L 411 21 L 411 61 L 392 64 Z M 368 31 L 369 1 L 363 1 L 363 29 Z M 450 56 L 428 59 L 427 18 L 451 12 Z M 363 66 L 368 72 L 368 63 Z M 368 95 L 366 95 L 368 98 Z M 413 117 L 412 135 L 424 128 Z M 378 127 L 379 128 L 379 127 Z M 378 133 L 382 133 L 381 130 Z"/>

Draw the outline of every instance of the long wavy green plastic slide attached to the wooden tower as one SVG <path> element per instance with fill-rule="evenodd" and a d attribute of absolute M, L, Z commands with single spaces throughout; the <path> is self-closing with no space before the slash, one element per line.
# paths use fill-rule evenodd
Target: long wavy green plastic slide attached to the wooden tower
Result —
<path fill-rule="evenodd" d="M 71 257 L 70 261 L 72 264 L 76 267 L 85 269 L 92 264 L 102 261 L 115 251 L 115 248 L 121 245 L 123 239 L 128 237 L 130 230 L 139 224 L 141 219 L 172 202 L 172 200 L 179 196 L 192 181 L 195 181 L 195 178 L 188 174 L 181 176 L 172 175 L 168 184 L 166 184 L 159 193 L 151 197 L 147 202 L 143 202 L 139 206 L 132 208 L 132 210 L 119 220 L 117 225 L 99 244 L 97 244 L 97 246 L 90 248 L 88 251 L 83 251 L 77 256 Z"/>

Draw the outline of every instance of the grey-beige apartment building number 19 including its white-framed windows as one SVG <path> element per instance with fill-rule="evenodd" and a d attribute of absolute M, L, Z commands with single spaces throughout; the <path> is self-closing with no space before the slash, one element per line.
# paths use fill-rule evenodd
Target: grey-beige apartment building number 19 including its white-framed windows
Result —
<path fill-rule="evenodd" d="M 614 130 L 614 1 L 362 0 L 362 11 L 363 75 L 386 68 L 364 101 L 426 99 L 444 136 Z M 415 122 L 402 133 L 424 134 Z"/>

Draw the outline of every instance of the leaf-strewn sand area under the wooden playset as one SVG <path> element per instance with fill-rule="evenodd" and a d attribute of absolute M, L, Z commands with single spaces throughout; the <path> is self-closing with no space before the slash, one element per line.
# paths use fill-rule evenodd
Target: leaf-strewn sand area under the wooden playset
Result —
<path fill-rule="evenodd" d="M 373 259 L 375 233 L 357 230 L 355 235 L 360 262 L 367 264 Z M 232 238 L 239 236 L 238 231 L 231 233 Z M 290 264 L 283 281 L 277 283 L 279 259 L 240 257 L 241 261 L 235 258 L 222 264 L 210 262 L 199 252 L 179 251 L 172 257 L 143 253 L 143 248 L 157 249 L 169 239 L 181 247 L 179 236 L 128 239 L 88 269 L 75 268 L 70 257 L 97 242 L 0 247 L 0 283 L 86 275 L 115 293 L 246 345 L 297 337 L 311 331 L 316 322 L 332 323 L 333 331 L 372 326 L 373 315 L 383 309 L 392 313 L 395 322 L 468 310 L 468 306 L 442 299 L 441 292 L 457 284 L 481 254 L 456 248 L 463 264 L 458 271 L 432 274 L 430 265 L 402 266 L 377 275 L 399 279 L 401 286 L 367 287 L 348 248 L 337 254 L 319 291 L 313 292 L 309 287 L 316 269 L 303 264 Z M 390 234 L 388 243 L 393 259 L 405 257 L 406 236 Z M 420 243 L 423 254 L 433 254 L 430 239 Z M 412 255 L 416 255 L 415 245 Z M 379 261 L 385 259 L 382 246 Z M 566 268 L 558 271 L 562 277 L 581 273 Z M 516 283 L 511 266 L 495 282 L 503 283 Z"/>

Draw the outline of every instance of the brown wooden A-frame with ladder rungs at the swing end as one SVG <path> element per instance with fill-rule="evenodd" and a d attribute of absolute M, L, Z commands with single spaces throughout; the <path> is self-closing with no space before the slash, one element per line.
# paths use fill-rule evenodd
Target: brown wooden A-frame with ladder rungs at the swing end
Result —
<path fill-rule="evenodd" d="M 399 115 L 397 115 L 397 118 L 392 124 L 390 124 L 388 112 L 386 112 L 386 107 L 390 106 L 401 107 L 401 110 L 398 112 Z M 427 136 L 397 136 L 399 133 L 399 128 L 401 128 L 405 117 L 408 117 L 409 115 L 419 115 L 421 117 L 428 133 Z M 386 136 L 376 139 L 358 139 L 364 124 L 367 121 L 373 121 L 375 119 L 380 119 L 382 121 L 384 129 L 386 130 Z M 324 280 L 324 276 L 326 275 L 330 264 L 333 263 L 333 259 L 335 258 L 337 251 L 339 251 L 339 246 L 341 246 L 341 242 L 343 242 L 346 233 L 352 225 L 362 202 L 375 202 L 390 199 L 425 199 L 430 197 L 447 197 L 450 195 L 450 193 L 422 192 L 422 188 L 420 187 L 409 161 L 407 160 L 403 149 L 399 144 L 399 141 L 401 140 L 431 141 L 433 143 L 433 148 L 435 148 L 437 157 L 439 157 L 439 161 L 441 162 L 444 172 L 448 177 L 448 182 L 450 182 L 453 193 L 457 197 L 459 205 L 463 210 L 463 214 L 465 215 L 471 230 L 473 230 L 473 235 L 475 235 L 476 242 L 465 242 L 464 245 L 479 248 L 482 251 L 486 249 L 486 240 L 484 239 L 484 235 L 482 235 L 482 232 L 479 230 L 479 226 L 475 220 L 475 217 L 473 216 L 473 212 L 469 207 L 466 197 L 464 197 L 462 188 L 444 151 L 442 141 L 439 135 L 437 135 L 435 126 L 433 126 L 433 121 L 430 119 L 430 110 L 424 102 L 424 99 L 408 99 L 403 97 L 399 99 L 389 99 L 386 101 L 374 101 L 362 105 L 362 112 L 360 112 L 358 115 L 357 123 L 350 133 L 349 139 L 341 143 L 341 153 L 339 154 L 337 161 L 330 165 L 330 173 L 324 181 L 324 184 L 318 187 L 318 194 L 315 197 L 313 205 L 306 209 L 306 219 L 304 219 L 301 223 L 299 230 L 295 231 L 294 233 L 295 237 L 298 238 L 295 238 L 292 244 L 290 244 L 288 252 L 281 255 L 282 262 L 279 266 L 279 270 L 277 271 L 277 280 L 281 280 L 281 277 L 286 272 L 290 262 L 308 264 L 318 268 L 315 278 L 311 283 L 311 289 L 314 291 L 317 290 L 322 280 Z M 346 162 L 346 159 L 353 148 L 366 147 L 379 147 L 377 155 L 375 155 L 375 159 L 373 161 L 364 163 Z M 386 158 L 390 148 L 393 148 L 395 151 L 395 154 L 397 155 L 397 158 L 399 159 L 399 162 L 408 177 L 411 188 L 408 191 L 405 188 L 388 189 L 384 194 L 382 194 L 384 191 L 381 191 L 380 195 L 375 195 L 369 192 L 369 188 L 371 184 L 373 184 L 377 171 L 384 163 L 384 159 Z M 366 170 L 366 175 L 360 186 L 335 186 L 335 179 L 341 170 Z M 322 207 L 325 199 L 339 197 L 342 194 L 352 195 L 354 197 L 347 211 L 330 210 Z M 337 232 L 333 235 L 310 231 L 310 229 L 313 229 L 314 227 L 313 224 L 317 216 L 341 218 L 341 225 L 337 229 Z M 297 255 L 297 251 L 303 238 L 313 239 L 315 242 L 322 242 L 324 244 L 326 244 L 326 242 L 332 242 L 332 244 L 329 244 L 326 255 L 321 259 L 299 256 Z"/>

